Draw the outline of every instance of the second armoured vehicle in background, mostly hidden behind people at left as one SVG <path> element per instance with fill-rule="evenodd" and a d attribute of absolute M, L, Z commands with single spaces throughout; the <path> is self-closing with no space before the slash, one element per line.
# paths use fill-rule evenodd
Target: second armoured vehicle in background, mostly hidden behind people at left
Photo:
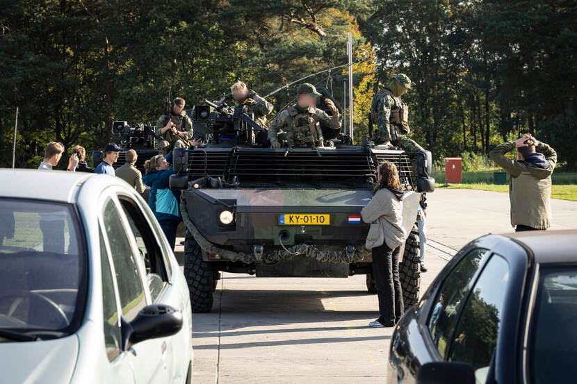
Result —
<path fill-rule="evenodd" d="M 128 122 L 113 122 L 112 140 L 122 147 L 122 151 L 118 153 L 118 160 L 113 165 L 115 168 L 124 165 L 127 162 L 127 151 L 134 149 L 138 153 L 135 166 L 145 174 L 145 161 L 159 154 L 158 149 L 156 149 L 158 139 L 154 133 L 154 126 L 150 124 L 130 125 Z M 101 161 L 102 151 L 93 151 L 92 167 L 96 167 Z"/>

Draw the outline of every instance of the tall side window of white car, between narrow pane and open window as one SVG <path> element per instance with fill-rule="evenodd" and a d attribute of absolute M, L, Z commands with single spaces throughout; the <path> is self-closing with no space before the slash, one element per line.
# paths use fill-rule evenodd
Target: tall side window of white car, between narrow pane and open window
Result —
<path fill-rule="evenodd" d="M 145 290 L 127 231 L 112 200 L 108 200 L 104 206 L 103 221 L 114 264 L 122 315 L 127 322 L 131 322 L 138 311 L 146 306 Z"/>

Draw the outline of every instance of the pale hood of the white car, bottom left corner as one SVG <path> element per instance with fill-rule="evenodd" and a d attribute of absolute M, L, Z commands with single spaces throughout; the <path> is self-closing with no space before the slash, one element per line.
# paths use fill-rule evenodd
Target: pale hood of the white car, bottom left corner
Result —
<path fill-rule="evenodd" d="M 79 342 L 76 335 L 38 342 L 0 343 L 3 383 L 70 383 Z"/>

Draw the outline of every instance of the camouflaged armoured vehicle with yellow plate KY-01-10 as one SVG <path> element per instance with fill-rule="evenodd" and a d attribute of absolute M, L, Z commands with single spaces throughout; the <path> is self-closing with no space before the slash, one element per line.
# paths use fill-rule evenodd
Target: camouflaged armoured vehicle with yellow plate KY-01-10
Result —
<path fill-rule="evenodd" d="M 346 144 L 352 140 L 343 135 L 325 147 L 270 149 L 266 130 L 243 107 L 205 103 L 191 117 L 206 144 L 175 149 L 177 174 L 170 178 L 172 189 L 183 190 L 184 272 L 193 312 L 211 310 L 222 271 L 265 277 L 366 274 L 367 289 L 375 292 L 371 251 L 364 247 L 370 224 L 360 212 L 372 197 L 377 165 L 394 162 L 405 187 L 432 192 L 430 152 L 377 149 L 369 140 Z M 418 192 L 409 192 L 403 204 L 409 232 L 400 265 L 405 308 L 419 293 Z"/>

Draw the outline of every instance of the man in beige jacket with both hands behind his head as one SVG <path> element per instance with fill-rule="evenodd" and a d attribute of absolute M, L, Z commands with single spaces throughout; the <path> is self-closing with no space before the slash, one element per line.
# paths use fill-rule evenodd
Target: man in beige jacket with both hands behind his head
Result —
<path fill-rule="evenodd" d="M 517 160 L 506 153 L 517 148 Z M 515 231 L 532 231 L 551 226 L 551 174 L 557 153 L 531 135 L 505 142 L 489 153 L 491 160 L 510 174 L 511 225 Z"/>

